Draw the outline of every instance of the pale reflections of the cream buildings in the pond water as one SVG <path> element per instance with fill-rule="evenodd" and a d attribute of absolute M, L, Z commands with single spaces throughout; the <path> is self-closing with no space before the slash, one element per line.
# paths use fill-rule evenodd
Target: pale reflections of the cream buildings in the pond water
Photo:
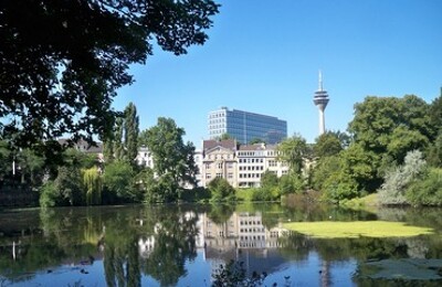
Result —
<path fill-rule="evenodd" d="M 185 215 L 188 220 L 193 216 L 197 215 Z M 197 227 L 199 233 L 194 237 L 196 246 L 202 249 L 212 274 L 217 274 L 220 265 L 231 259 L 244 262 L 248 273 L 270 272 L 283 263 L 276 252 L 283 230 L 280 226 L 265 227 L 261 212 L 234 212 L 225 221 L 202 213 L 198 215 Z M 155 235 L 139 238 L 140 256 L 147 258 L 156 243 Z"/>

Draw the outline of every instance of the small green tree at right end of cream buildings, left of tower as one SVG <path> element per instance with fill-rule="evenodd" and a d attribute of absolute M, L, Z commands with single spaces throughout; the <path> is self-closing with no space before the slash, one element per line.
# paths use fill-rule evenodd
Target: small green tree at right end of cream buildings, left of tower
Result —
<path fill-rule="evenodd" d="M 307 152 L 307 142 L 299 136 L 294 135 L 284 139 L 277 147 L 278 160 L 288 163 L 295 173 L 301 173 L 304 167 L 304 156 Z"/>

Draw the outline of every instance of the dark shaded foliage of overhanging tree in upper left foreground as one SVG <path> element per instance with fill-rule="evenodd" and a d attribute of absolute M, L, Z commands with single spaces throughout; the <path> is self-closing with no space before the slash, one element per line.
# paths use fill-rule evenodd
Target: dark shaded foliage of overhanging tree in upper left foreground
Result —
<path fill-rule="evenodd" d="M 176 55 L 203 44 L 212 0 L 78 0 L 0 3 L 0 134 L 29 146 L 70 132 L 106 135 L 130 64 L 158 46 Z M 25 19 L 25 21 L 23 21 Z"/>

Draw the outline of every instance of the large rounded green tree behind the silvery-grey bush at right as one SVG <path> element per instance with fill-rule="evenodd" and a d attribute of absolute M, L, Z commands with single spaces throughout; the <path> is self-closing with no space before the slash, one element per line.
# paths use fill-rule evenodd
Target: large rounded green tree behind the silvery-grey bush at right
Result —
<path fill-rule="evenodd" d="M 408 151 L 424 150 L 434 132 L 429 105 L 413 95 L 366 97 L 355 105 L 348 129 L 354 142 L 348 148 L 351 150 L 343 153 L 346 167 L 359 189 L 368 192 L 380 188 L 388 167 L 403 163 Z"/>

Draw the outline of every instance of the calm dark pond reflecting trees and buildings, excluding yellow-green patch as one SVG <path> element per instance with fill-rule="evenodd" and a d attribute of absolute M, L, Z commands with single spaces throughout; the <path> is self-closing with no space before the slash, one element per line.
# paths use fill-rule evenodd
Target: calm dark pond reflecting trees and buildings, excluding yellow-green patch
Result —
<path fill-rule="evenodd" d="M 283 227 L 362 221 L 401 222 L 432 234 L 315 237 Z M 212 286 L 234 281 L 228 272 L 263 286 L 440 286 L 441 234 L 439 209 L 266 203 L 11 210 L 0 213 L 0 286 Z"/>

